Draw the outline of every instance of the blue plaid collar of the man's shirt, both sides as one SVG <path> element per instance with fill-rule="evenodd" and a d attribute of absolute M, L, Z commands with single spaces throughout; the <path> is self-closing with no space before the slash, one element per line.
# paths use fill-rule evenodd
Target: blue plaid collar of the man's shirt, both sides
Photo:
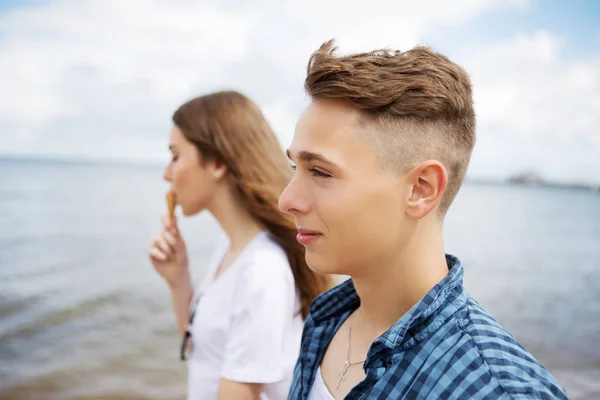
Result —
<path fill-rule="evenodd" d="M 400 318 L 386 333 L 376 341 L 386 346 L 395 346 L 414 338 L 416 333 L 426 335 L 428 330 L 435 328 L 437 316 L 452 314 L 460 306 L 455 299 L 463 293 L 464 270 L 460 260 L 452 255 L 446 255 L 448 275 L 438 282 L 417 304 Z M 460 302 L 459 302 L 460 303 Z M 339 317 L 360 305 L 360 298 L 354 288 L 352 279 L 341 283 L 330 291 L 317 297 L 311 306 L 311 316 L 318 324 L 319 321 Z M 429 329 L 428 329 L 429 328 Z M 408 331 L 415 335 L 406 335 Z M 410 344 L 410 343 L 409 343 Z"/>

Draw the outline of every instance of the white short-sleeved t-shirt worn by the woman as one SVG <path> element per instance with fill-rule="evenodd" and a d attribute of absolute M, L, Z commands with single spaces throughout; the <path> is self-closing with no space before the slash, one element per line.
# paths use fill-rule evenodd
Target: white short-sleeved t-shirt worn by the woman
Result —
<path fill-rule="evenodd" d="M 261 400 L 286 399 L 304 323 L 287 256 L 261 232 L 215 279 L 228 246 L 221 240 L 192 300 L 188 400 L 216 399 L 221 378 L 265 384 Z"/>

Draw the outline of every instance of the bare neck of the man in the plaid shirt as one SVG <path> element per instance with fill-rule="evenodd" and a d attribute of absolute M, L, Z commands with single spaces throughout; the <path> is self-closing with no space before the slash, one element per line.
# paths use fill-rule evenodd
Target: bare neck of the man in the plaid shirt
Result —
<path fill-rule="evenodd" d="M 355 324 L 376 339 L 447 275 L 441 232 L 416 233 L 396 259 L 352 277 L 361 302 Z"/>

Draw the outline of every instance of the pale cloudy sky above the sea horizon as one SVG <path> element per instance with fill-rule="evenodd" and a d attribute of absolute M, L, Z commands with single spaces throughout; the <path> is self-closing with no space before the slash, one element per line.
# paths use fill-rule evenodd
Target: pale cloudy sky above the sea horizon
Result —
<path fill-rule="evenodd" d="M 168 162 L 173 111 L 215 90 L 282 147 L 310 54 L 425 44 L 472 78 L 474 178 L 600 184 L 600 2 L 0 0 L 0 155 Z"/>

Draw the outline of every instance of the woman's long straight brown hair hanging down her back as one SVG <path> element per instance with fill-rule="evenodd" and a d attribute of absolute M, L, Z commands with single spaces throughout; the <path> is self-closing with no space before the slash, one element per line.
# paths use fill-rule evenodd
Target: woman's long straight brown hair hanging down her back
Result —
<path fill-rule="evenodd" d="M 292 171 L 260 109 L 240 93 L 217 92 L 183 104 L 173 122 L 203 161 L 227 167 L 229 182 L 246 209 L 284 249 L 306 318 L 311 302 L 332 286 L 332 280 L 306 265 L 295 224 L 279 210 L 279 196 Z"/>

